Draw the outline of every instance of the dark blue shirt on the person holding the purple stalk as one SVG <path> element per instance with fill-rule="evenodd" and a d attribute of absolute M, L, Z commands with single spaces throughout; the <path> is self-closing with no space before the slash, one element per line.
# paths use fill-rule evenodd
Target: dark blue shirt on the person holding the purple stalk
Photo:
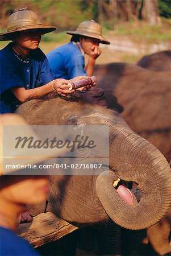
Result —
<path fill-rule="evenodd" d="M 1 57 L 1 104 L 2 113 L 13 113 L 20 104 L 11 92 L 13 87 L 33 89 L 55 79 L 47 57 L 40 48 L 31 50 L 30 60 L 23 60 L 12 50 L 9 43 L 0 51 Z"/>

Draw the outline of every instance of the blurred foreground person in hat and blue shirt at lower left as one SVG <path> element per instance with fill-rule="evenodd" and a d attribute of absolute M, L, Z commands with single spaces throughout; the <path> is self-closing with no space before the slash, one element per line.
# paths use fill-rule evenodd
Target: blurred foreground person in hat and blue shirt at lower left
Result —
<path fill-rule="evenodd" d="M 0 255 L 2 256 L 34 256 L 39 255 L 23 238 L 15 234 L 20 212 L 22 212 L 27 204 L 39 204 L 46 200 L 48 192 L 48 179 L 47 176 L 26 176 L 24 169 L 18 170 L 16 168 L 9 168 L 4 171 L 3 168 L 3 126 L 12 125 L 11 133 L 15 130 L 14 125 L 20 125 L 24 130 L 27 130 L 28 136 L 35 137 L 34 131 L 21 117 L 17 114 L 2 114 L 0 115 L 0 175 L 1 175 L 1 188 L 0 188 Z M 18 126 L 17 126 L 18 127 Z M 18 128 L 16 128 L 18 129 Z M 9 141 L 7 145 L 9 151 L 14 152 L 13 144 Z M 23 155 L 27 155 L 27 149 L 24 149 Z M 18 155 L 16 155 L 17 158 Z M 17 158 L 18 159 L 18 158 Z M 16 161 L 17 161 L 16 159 Z M 22 158 L 21 164 L 30 163 L 30 159 Z M 34 158 L 32 163 L 43 162 L 43 158 Z M 15 158 L 12 159 L 15 161 Z M 7 159 L 8 163 L 10 159 Z M 21 176 L 21 174 L 23 174 Z"/>

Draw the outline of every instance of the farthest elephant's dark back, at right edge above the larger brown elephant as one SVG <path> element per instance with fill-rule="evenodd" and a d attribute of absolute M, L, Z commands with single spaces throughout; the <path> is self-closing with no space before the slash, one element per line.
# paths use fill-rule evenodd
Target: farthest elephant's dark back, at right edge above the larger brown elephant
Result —
<path fill-rule="evenodd" d="M 171 51 L 156 52 L 144 56 L 137 62 L 137 65 L 151 71 L 170 71 L 171 70 Z"/>

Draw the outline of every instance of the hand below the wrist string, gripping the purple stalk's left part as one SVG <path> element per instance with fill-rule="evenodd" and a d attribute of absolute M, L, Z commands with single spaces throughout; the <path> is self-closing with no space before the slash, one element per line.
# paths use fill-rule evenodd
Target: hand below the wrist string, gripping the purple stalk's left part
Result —
<path fill-rule="evenodd" d="M 74 90 L 68 90 L 68 83 L 69 80 L 66 79 L 55 79 L 53 80 L 53 88 L 59 95 L 66 96 L 66 94 L 74 92 Z"/>

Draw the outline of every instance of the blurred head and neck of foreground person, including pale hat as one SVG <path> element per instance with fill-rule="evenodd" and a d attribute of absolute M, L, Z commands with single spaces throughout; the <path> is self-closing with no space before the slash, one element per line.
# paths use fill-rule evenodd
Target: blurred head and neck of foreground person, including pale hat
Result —
<path fill-rule="evenodd" d="M 0 141 L 3 141 L 3 126 L 5 125 L 19 125 L 21 129 L 26 129 L 26 122 L 23 121 L 19 115 L 16 114 L 2 114 L 0 115 Z M 12 131 L 11 126 L 11 131 Z M 34 131 L 28 128 L 28 137 L 35 136 Z M 2 145 L 3 146 L 3 145 Z M 11 144 L 7 145 L 9 151 Z M 27 148 L 24 149 L 27 156 Z M 48 176 L 28 176 L 18 175 L 17 170 L 11 168 L 3 172 L 3 148 L 1 147 L 1 187 L 0 187 L 0 225 L 7 229 L 16 229 L 16 219 L 20 212 L 24 210 L 27 204 L 39 204 L 46 200 L 48 193 Z M 16 156 L 17 158 L 18 156 Z M 43 162 L 43 158 L 32 159 L 32 163 Z M 11 159 L 7 160 L 11 161 Z M 30 158 L 22 158 L 21 164 L 25 165 L 31 162 Z M 8 163 L 8 162 L 6 162 Z M 20 172 L 21 173 L 21 172 Z M 6 174 L 6 175 L 5 175 Z M 16 174 L 16 175 L 15 175 Z"/>

